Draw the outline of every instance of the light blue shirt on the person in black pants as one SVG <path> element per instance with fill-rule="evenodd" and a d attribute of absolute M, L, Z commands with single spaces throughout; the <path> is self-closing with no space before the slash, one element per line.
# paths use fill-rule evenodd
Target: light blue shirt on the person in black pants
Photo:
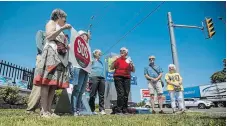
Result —
<path fill-rule="evenodd" d="M 94 59 L 91 66 L 90 77 L 103 77 L 104 78 L 104 67 L 100 60 Z"/>

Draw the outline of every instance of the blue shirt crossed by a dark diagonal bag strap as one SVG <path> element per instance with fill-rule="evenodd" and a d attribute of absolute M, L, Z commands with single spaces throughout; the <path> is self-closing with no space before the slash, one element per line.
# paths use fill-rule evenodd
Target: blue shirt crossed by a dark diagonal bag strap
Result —
<path fill-rule="evenodd" d="M 162 69 L 157 66 L 157 65 L 154 65 L 153 68 L 160 74 L 162 73 Z M 152 69 L 152 67 L 149 65 L 148 67 L 145 67 L 144 68 L 144 75 L 148 75 L 152 78 L 157 78 L 159 76 L 159 74 L 157 72 L 154 71 L 154 69 Z"/>

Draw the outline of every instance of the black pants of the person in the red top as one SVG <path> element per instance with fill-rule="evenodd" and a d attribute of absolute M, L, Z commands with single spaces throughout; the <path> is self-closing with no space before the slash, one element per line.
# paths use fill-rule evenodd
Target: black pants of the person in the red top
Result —
<path fill-rule="evenodd" d="M 130 92 L 130 78 L 114 77 L 115 88 L 117 91 L 117 110 L 116 113 L 126 113 L 128 108 L 128 95 Z"/>

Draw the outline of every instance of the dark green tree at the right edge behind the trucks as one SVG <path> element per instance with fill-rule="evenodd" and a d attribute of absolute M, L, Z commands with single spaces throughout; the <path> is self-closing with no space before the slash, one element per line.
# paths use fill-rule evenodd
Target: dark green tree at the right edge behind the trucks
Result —
<path fill-rule="evenodd" d="M 210 78 L 211 83 L 226 82 L 226 59 L 223 60 L 223 70 L 215 72 Z"/>

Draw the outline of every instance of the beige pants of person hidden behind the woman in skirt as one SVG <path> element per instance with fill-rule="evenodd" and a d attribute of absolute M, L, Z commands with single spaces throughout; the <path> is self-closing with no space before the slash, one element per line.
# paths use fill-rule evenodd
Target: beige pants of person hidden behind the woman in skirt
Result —
<path fill-rule="evenodd" d="M 35 111 L 40 103 L 41 98 L 41 87 L 33 85 L 31 94 L 28 99 L 27 111 Z"/>

